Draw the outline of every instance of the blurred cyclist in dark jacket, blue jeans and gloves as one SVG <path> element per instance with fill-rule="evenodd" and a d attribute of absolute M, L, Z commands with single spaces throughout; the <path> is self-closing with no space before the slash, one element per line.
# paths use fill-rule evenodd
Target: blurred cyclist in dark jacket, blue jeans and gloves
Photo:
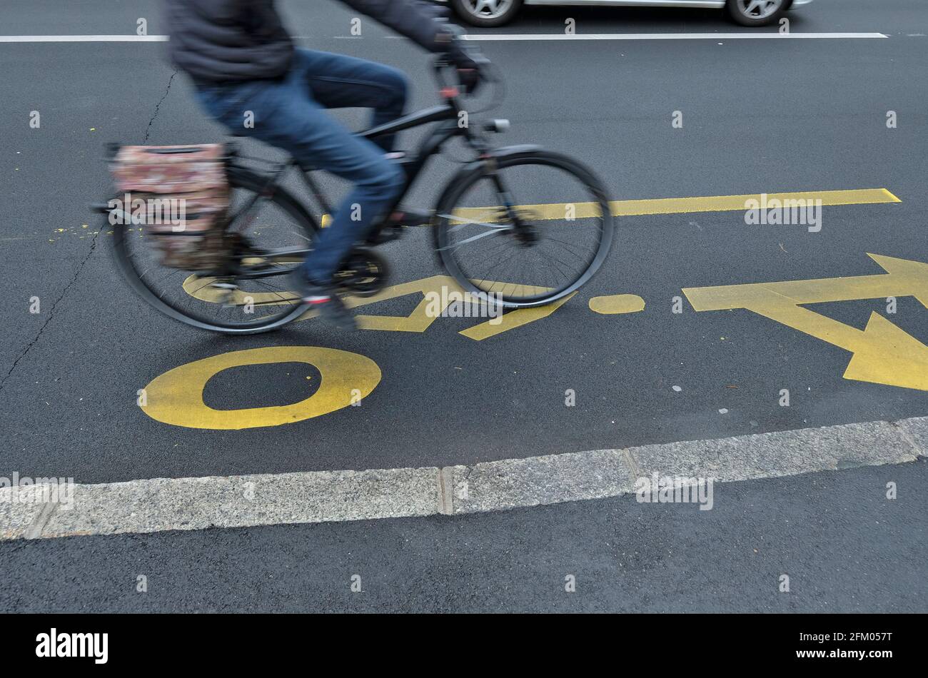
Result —
<path fill-rule="evenodd" d="M 403 186 L 393 137 L 358 138 L 326 109 L 373 109 L 372 124 L 403 114 L 406 76 L 360 58 L 294 47 L 274 0 L 165 0 L 171 60 L 193 80 L 200 104 L 235 134 L 288 151 L 354 184 L 303 267 L 291 276 L 322 318 L 354 328 L 333 275 L 354 243 L 378 224 Z M 426 49 L 444 53 L 466 91 L 481 80 L 481 58 L 464 49 L 420 0 L 341 0 Z"/>

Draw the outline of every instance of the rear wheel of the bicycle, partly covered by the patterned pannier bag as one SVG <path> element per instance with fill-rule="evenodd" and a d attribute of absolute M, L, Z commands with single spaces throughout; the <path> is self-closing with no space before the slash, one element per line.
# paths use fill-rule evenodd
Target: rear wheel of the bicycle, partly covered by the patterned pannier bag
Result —
<path fill-rule="evenodd" d="M 116 261 L 129 285 L 161 313 L 187 325 L 226 334 L 267 332 L 305 309 L 286 275 L 303 262 L 316 224 L 303 206 L 266 178 L 229 168 L 229 233 L 238 244 L 222 272 L 181 271 L 161 265 L 144 225 L 113 226 Z"/>

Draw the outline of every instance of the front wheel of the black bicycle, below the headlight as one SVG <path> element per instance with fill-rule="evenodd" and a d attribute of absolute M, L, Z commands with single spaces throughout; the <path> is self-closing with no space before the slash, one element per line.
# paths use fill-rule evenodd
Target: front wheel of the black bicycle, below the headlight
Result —
<path fill-rule="evenodd" d="M 612 245 L 606 191 L 583 165 L 534 151 L 481 167 L 436 206 L 438 253 L 478 299 L 527 308 L 583 286 Z"/>

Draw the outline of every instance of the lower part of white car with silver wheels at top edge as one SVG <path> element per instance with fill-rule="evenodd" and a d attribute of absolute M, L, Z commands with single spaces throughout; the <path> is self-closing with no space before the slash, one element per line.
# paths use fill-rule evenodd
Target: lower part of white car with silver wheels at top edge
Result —
<path fill-rule="evenodd" d="M 812 0 L 448 0 L 458 17 L 474 26 L 501 26 L 522 5 L 586 5 L 623 7 L 717 7 L 743 26 L 774 23 L 791 7 Z"/>

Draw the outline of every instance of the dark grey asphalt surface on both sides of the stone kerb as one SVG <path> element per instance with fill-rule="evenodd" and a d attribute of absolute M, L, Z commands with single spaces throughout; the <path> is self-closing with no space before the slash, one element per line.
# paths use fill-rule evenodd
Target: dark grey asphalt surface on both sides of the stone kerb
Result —
<path fill-rule="evenodd" d="M 367 19 L 352 35 L 354 15 L 337 3 L 282 5 L 300 45 L 392 64 L 413 84 L 411 109 L 436 102 L 415 45 Z M 159 35 L 159 10 L 15 0 L 0 30 L 135 34 L 144 18 Z M 566 18 L 576 39 L 480 40 L 562 34 Z M 95 485 L 473 467 L 928 416 L 928 13 L 922 0 L 816 0 L 790 19 L 793 33 L 883 37 L 752 39 L 777 29 L 745 30 L 711 10 L 582 7 L 527 8 L 508 27 L 471 31 L 506 79 L 490 114 L 511 121 L 500 144 L 559 150 L 593 168 L 613 200 L 654 201 L 641 210 L 650 213 L 617 218 L 610 259 L 576 296 L 480 340 L 462 334 L 483 322 L 474 318 L 351 335 L 307 320 L 229 338 L 148 308 L 118 277 L 111 236 L 86 208 L 112 190 L 102 146 L 215 141 L 223 130 L 162 42 L 0 36 L 0 477 Z M 364 125 L 358 111 L 339 115 Z M 438 160 L 408 202 L 431 208 L 453 160 Z M 823 198 L 820 230 L 746 224 L 744 198 L 761 194 Z M 741 207 L 718 198 L 728 196 Z M 702 197 L 680 209 L 659 201 Z M 381 253 L 393 285 L 444 273 L 424 230 Z M 806 283 L 773 285 L 785 281 Z M 804 305 L 767 303 L 747 287 L 759 283 Z M 643 309 L 591 309 L 619 294 Z M 419 299 L 363 313 L 404 316 Z M 367 356 L 380 382 L 359 407 L 249 429 L 198 424 L 196 411 L 165 423 L 138 406 L 139 390 L 181 365 L 299 346 Z M 213 410 L 270 409 L 311 399 L 320 377 L 292 360 L 246 360 L 177 388 L 202 391 Z M 924 444 L 913 442 L 913 458 Z M 0 541 L 0 608 L 925 611 L 923 460 L 837 467 L 744 474 L 756 480 L 720 485 L 710 511 L 623 495 L 453 517 Z M 795 573 L 789 595 L 778 589 L 784 573 Z M 364 582 L 356 596 L 354 574 Z M 151 582 L 146 595 L 138 575 Z"/>

